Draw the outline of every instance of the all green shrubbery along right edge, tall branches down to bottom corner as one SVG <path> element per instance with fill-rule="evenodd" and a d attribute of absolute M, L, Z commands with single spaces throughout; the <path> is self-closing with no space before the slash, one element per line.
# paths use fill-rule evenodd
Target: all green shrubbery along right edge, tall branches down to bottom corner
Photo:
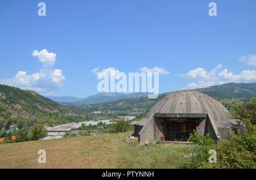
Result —
<path fill-rule="evenodd" d="M 255 98 L 243 103 L 233 101 L 230 117 L 238 119 L 235 131 L 229 139 L 221 140 L 215 146 L 203 144 L 197 155 L 184 164 L 184 168 L 256 168 L 255 105 Z M 197 138 L 194 135 L 191 140 Z M 216 164 L 208 162 L 210 149 L 217 152 Z"/>

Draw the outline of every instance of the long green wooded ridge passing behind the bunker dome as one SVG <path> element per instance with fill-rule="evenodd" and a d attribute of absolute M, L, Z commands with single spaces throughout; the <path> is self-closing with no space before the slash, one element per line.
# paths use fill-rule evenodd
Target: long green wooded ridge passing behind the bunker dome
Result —
<path fill-rule="evenodd" d="M 193 91 L 200 91 L 217 100 L 231 99 L 231 98 L 247 98 L 256 96 L 256 83 L 228 83 L 222 85 L 214 85 L 212 87 L 192 89 Z M 169 92 L 172 93 L 172 92 Z M 69 108 L 75 108 L 83 112 L 93 111 L 121 111 L 121 112 L 146 112 L 155 105 L 161 98 L 167 96 L 169 93 L 162 93 L 158 98 L 150 99 L 146 96 L 131 97 L 110 102 L 101 102 L 97 104 L 74 106 L 68 105 Z"/>

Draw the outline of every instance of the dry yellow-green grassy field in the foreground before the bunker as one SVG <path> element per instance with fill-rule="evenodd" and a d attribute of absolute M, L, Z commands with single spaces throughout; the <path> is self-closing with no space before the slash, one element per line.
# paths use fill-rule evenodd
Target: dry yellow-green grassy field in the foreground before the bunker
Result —
<path fill-rule="evenodd" d="M 140 145 L 131 132 L 0 144 L 0 168 L 183 168 L 198 145 Z M 38 150 L 46 151 L 39 164 Z"/>

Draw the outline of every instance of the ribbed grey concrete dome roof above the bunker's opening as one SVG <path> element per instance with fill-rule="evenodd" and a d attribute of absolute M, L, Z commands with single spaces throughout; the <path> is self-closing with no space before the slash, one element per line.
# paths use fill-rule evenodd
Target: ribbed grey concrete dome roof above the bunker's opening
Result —
<path fill-rule="evenodd" d="M 220 102 L 198 91 L 176 91 L 167 95 L 150 109 L 146 118 L 156 113 L 208 114 L 217 127 L 234 123 L 228 118 L 228 110 Z"/>

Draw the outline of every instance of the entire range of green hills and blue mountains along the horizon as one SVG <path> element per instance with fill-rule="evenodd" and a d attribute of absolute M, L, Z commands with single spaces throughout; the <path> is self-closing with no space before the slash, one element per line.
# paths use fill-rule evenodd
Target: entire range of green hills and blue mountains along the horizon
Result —
<path fill-rule="evenodd" d="M 256 96 L 256 83 L 229 83 L 195 90 L 217 100 L 246 98 Z M 143 113 L 167 94 L 150 99 L 147 97 L 148 93 L 98 93 L 84 100 L 61 105 L 34 91 L 0 84 L 0 122 L 2 119 L 18 118 L 55 124 L 86 120 L 87 113 L 93 111 Z M 67 99 L 72 101 L 72 98 L 66 97 Z"/>

